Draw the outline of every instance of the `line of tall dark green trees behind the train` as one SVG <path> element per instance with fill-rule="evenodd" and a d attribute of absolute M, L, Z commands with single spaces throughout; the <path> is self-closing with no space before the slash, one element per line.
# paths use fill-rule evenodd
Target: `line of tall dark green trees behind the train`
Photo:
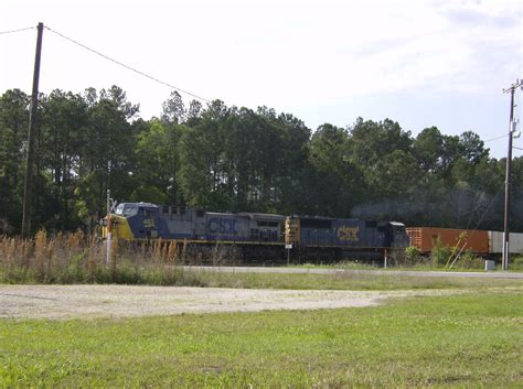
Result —
<path fill-rule="evenodd" d="M 30 96 L 0 97 L 0 233 L 21 228 Z M 472 131 L 416 137 L 391 119 L 316 131 L 271 108 L 185 105 L 158 117 L 126 93 L 39 97 L 32 230 L 92 230 L 106 191 L 118 201 L 394 219 L 410 226 L 502 229 L 505 160 Z M 523 231 L 523 158 L 513 160 L 511 229 Z"/>

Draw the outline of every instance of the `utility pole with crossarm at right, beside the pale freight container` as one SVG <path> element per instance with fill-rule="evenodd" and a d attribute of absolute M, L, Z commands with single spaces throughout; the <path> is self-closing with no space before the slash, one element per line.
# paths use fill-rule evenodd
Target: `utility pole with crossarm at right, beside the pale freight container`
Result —
<path fill-rule="evenodd" d="M 502 270 L 509 270 L 509 242 L 510 242 L 510 190 L 511 190 L 511 165 L 512 165 L 512 136 L 515 131 L 515 121 L 514 121 L 514 93 L 522 83 L 515 80 L 514 84 L 508 89 L 504 89 L 503 93 L 510 91 L 510 127 L 509 127 L 509 151 L 506 153 L 506 172 L 505 172 L 505 209 L 504 209 L 504 228 L 503 228 L 503 258 L 502 258 Z"/>

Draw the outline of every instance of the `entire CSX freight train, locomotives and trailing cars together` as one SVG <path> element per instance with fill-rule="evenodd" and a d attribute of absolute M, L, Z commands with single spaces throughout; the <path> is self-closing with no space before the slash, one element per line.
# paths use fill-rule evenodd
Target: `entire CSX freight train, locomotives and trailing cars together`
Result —
<path fill-rule="evenodd" d="M 234 246 L 244 261 L 373 261 L 402 252 L 408 246 L 428 255 L 437 242 L 499 258 L 503 247 L 503 234 L 499 231 L 406 228 L 396 221 L 318 216 L 214 213 L 150 203 L 121 203 L 110 218 L 113 236 L 119 240 L 178 240 L 200 248 Z M 106 235 L 107 227 L 103 228 L 103 236 Z M 511 234 L 510 241 L 511 253 L 523 253 L 523 234 Z"/>

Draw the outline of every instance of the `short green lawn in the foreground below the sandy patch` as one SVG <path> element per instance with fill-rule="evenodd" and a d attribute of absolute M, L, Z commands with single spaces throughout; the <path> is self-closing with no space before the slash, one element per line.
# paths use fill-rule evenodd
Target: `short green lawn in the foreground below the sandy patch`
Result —
<path fill-rule="evenodd" d="M 523 293 L 0 322 L 2 387 L 521 387 Z"/>

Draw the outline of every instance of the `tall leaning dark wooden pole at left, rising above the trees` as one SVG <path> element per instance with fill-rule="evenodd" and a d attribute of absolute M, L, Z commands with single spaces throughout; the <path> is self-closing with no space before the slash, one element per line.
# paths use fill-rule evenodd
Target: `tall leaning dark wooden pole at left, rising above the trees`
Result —
<path fill-rule="evenodd" d="M 33 164 L 34 164 L 34 125 L 36 121 L 36 110 L 39 105 L 39 79 L 40 79 L 40 56 L 42 53 L 43 23 L 38 25 L 36 54 L 34 57 L 33 91 L 31 95 L 31 110 L 29 114 L 29 134 L 28 134 L 28 159 L 25 163 L 25 182 L 23 185 L 23 216 L 22 216 L 22 237 L 31 236 L 31 205 L 33 190 Z"/>

